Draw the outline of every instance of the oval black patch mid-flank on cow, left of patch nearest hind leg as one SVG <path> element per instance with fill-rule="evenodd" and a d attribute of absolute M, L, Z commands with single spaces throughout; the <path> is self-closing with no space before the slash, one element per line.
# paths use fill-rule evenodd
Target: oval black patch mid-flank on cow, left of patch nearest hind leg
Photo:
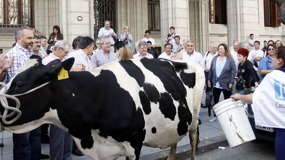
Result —
<path fill-rule="evenodd" d="M 176 115 L 176 107 L 173 104 L 172 97 L 169 93 L 161 93 L 159 102 L 159 109 L 165 118 L 169 118 L 170 120 L 174 120 Z"/>

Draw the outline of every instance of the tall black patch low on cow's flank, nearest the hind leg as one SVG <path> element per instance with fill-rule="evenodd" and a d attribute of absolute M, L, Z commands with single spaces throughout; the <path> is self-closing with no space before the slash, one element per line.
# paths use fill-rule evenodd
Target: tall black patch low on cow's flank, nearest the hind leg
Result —
<path fill-rule="evenodd" d="M 177 133 L 178 135 L 182 136 L 187 134 L 188 132 L 188 125 L 190 125 L 192 122 L 192 114 L 188 109 L 186 109 L 186 107 L 184 107 L 184 104 L 181 101 L 179 101 L 179 106 L 177 110 L 179 118 L 179 122 L 177 125 Z"/>

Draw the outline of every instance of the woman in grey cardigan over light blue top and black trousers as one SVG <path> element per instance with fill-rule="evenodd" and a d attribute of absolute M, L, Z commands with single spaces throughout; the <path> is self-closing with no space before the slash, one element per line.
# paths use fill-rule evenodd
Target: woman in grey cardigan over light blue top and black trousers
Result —
<path fill-rule="evenodd" d="M 236 62 L 226 44 L 222 43 L 218 46 L 218 53 L 212 59 L 208 76 L 208 87 L 213 87 L 214 104 L 219 102 L 221 92 L 224 94 L 224 99 L 231 97 L 234 77 L 237 72 Z M 217 120 L 214 113 L 214 118 L 209 120 L 209 122 Z"/>

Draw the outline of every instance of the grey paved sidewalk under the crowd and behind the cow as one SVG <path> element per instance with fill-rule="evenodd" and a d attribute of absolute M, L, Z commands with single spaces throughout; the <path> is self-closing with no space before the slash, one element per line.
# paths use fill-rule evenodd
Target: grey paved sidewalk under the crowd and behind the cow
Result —
<path fill-rule="evenodd" d="M 205 104 L 205 90 L 202 97 L 202 103 Z M 220 96 L 220 101 L 224 100 L 223 94 Z M 202 108 L 202 125 L 199 125 L 199 138 L 200 138 L 200 147 L 203 147 L 205 144 L 212 144 L 213 141 L 219 142 L 224 140 L 224 132 L 218 121 L 210 123 L 209 120 L 213 118 L 213 111 L 211 111 L 211 117 L 208 116 L 208 109 Z M 188 133 L 189 134 L 189 133 Z M 189 150 L 190 140 L 189 136 L 185 136 L 180 142 L 177 144 L 177 153 L 186 152 L 185 150 Z M 221 138 L 222 137 L 222 138 Z M 12 140 L 12 133 L 4 131 L 0 133 L 0 143 L 4 143 L 4 147 L 0 148 L 0 160 L 13 160 L 13 140 Z M 159 148 L 151 148 L 143 146 L 140 159 L 142 160 L 149 160 L 155 159 L 155 157 L 162 158 L 162 156 L 166 156 L 168 154 L 167 149 L 159 149 Z M 191 147 L 190 147 L 191 149 Z M 162 152 L 165 151 L 165 152 Z M 43 154 L 49 155 L 49 144 L 42 144 Z M 200 149 L 199 153 L 208 152 L 207 149 Z M 92 160 L 88 156 L 75 156 L 71 154 L 73 160 Z M 190 156 L 190 155 L 189 155 Z M 157 158 L 157 159 L 158 159 Z M 124 160 L 125 157 L 121 157 L 117 160 Z"/>

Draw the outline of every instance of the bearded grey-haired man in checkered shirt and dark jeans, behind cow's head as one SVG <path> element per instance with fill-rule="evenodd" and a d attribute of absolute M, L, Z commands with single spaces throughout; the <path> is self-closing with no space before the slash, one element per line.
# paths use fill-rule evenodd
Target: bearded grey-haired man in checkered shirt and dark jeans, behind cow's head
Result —
<path fill-rule="evenodd" d="M 6 84 L 19 71 L 19 69 L 24 66 L 31 55 L 33 55 L 33 50 L 31 49 L 34 42 L 33 38 L 33 32 L 31 28 L 27 26 L 23 26 L 16 30 L 16 46 L 6 54 L 8 59 L 15 57 L 14 65 L 6 70 Z M 41 157 L 41 127 L 26 133 L 13 133 L 13 144 L 14 160 L 49 158 L 49 156 Z"/>

